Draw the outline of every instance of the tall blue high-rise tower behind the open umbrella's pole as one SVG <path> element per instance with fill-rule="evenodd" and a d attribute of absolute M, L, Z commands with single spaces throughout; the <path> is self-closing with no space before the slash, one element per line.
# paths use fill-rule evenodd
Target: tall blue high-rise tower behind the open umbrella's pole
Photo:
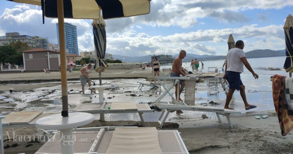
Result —
<path fill-rule="evenodd" d="M 58 38 L 58 45 L 59 45 L 58 23 L 56 23 L 56 27 L 57 27 L 57 38 Z M 69 54 L 79 55 L 78 45 L 77 45 L 76 26 L 72 25 L 71 23 L 64 23 L 64 28 L 65 28 L 65 48 L 69 50 Z"/>

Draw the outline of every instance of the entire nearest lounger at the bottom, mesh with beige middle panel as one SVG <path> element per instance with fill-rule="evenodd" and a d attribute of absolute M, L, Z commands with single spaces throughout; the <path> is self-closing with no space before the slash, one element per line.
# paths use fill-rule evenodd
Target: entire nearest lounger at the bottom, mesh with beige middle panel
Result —
<path fill-rule="evenodd" d="M 112 127 L 113 128 L 113 127 Z M 60 154 L 60 133 L 54 133 L 35 154 Z M 188 150 L 177 130 L 157 131 L 154 127 L 118 127 L 110 131 L 109 127 L 74 129 L 74 153 L 163 153 L 188 154 Z"/>

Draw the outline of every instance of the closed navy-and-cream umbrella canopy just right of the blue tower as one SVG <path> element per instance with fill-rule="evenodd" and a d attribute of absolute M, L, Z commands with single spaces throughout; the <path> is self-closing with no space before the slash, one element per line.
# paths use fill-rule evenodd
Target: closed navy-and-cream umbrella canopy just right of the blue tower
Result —
<path fill-rule="evenodd" d="M 103 18 L 100 18 L 99 20 L 93 20 L 92 26 L 97 60 L 93 68 L 96 72 L 103 72 L 109 66 L 104 60 L 106 52 L 106 23 Z"/>

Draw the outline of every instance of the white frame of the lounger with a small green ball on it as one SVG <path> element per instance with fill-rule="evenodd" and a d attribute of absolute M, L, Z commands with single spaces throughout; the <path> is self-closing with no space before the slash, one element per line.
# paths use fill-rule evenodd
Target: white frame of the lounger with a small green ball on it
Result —
<path fill-rule="evenodd" d="M 111 104 L 112 102 L 103 102 L 103 103 L 86 103 L 86 104 L 78 104 L 78 105 L 101 105 L 100 109 L 91 109 L 91 110 L 75 110 L 70 112 L 86 112 L 90 114 L 123 114 L 123 113 L 138 113 L 139 118 L 142 122 L 142 126 L 146 126 L 142 114 L 145 112 L 152 112 L 151 108 L 148 106 L 147 103 L 140 103 L 136 104 L 138 106 L 144 107 L 144 109 L 108 109 L 107 105 Z M 121 102 L 123 103 L 123 102 Z"/>

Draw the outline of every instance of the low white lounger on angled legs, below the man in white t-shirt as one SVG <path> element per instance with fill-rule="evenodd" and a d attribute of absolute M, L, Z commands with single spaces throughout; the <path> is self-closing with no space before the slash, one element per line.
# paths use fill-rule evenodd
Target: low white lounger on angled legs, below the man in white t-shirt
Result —
<path fill-rule="evenodd" d="M 235 111 L 235 110 L 221 109 L 221 108 L 216 108 L 216 107 L 211 107 L 211 106 L 190 106 L 190 105 L 186 105 L 185 103 L 171 104 L 169 102 L 162 102 L 161 101 L 160 103 L 156 104 L 156 106 L 158 106 L 159 109 L 163 110 L 159 119 L 158 119 L 158 122 L 160 123 L 161 128 L 163 127 L 163 124 L 166 121 L 168 114 L 170 113 L 171 110 L 215 112 L 217 114 L 219 123 L 222 123 L 219 115 L 226 116 L 231 128 L 233 128 L 233 124 L 230 120 L 229 115 L 230 114 L 241 114 L 240 111 Z M 165 112 L 166 112 L 166 114 L 164 116 Z M 163 120 L 161 120 L 162 118 L 163 118 Z"/>

